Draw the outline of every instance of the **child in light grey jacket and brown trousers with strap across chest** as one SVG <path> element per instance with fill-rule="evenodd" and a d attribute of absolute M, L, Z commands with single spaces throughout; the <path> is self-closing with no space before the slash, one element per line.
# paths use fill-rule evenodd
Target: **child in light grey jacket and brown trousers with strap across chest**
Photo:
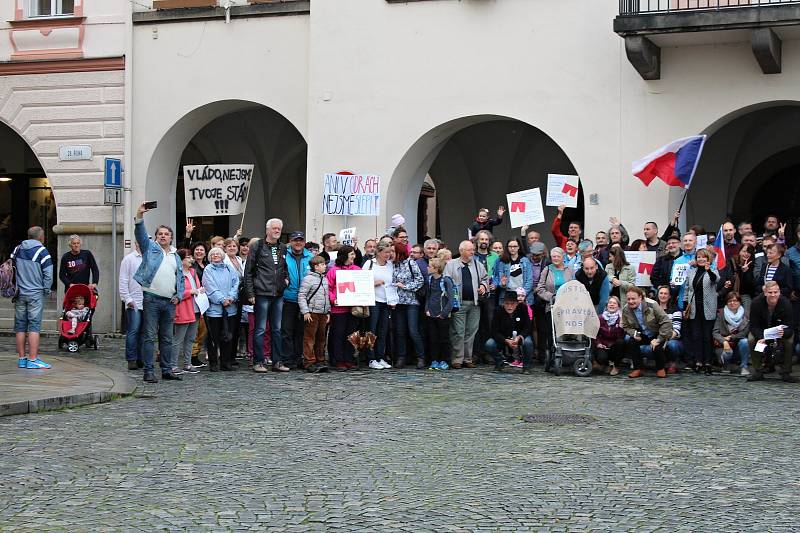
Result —
<path fill-rule="evenodd" d="M 321 255 L 309 262 L 311 272 L 306 274 L 297 294 L 297 304 L 306 325 L 303 328 L 303 367 L 306 372 L 327 372 L 325 365 L 325 334 L 330 322 L 331 302 L 328 299 L 328 264 Z"/>

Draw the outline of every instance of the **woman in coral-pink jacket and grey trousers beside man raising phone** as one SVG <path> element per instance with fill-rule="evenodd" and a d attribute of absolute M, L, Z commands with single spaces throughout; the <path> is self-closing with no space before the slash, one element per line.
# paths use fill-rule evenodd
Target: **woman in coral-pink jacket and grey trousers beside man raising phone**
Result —
<path fill-rule="evenodd" d="M 175 306 L 175 330 L 172 335 L 172 353 L 175 361 L 183 355 L 183 368 L 173 368 L 174 374 L 197 374 L 200 369 L 192 365 L 192 345 L 197 336 L 197 325 L 202 320 L 200 309 L 194 297 L 205 292 L 200 284 L 195 269 L 192 268 L 194 258 L 192 252 L 186 248 L 178 250 L 183 266 L 184 290 L 181 301 Z"/>

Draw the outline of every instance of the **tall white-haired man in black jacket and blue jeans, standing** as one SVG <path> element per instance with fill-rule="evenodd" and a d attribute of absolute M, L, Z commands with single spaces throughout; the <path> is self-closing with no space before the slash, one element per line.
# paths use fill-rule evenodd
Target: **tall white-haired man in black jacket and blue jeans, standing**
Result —
<path fill-rule="evenodd" d="M 244 272 L 245 298 L 254 306 L 255 328 L 253 331 L 253 371 L 267 372 L 264 364 L 264 333 L 267 318 L 272 345 L 272 368 L 288 372 L 283 361 L 281 343 L 281 316 L 283 315 L 283 291 L 289 285 L 286 268 L 286 245 L 281 244 L 283 222 L 278 218 L 267 221 L 267 235 L 250 250 Z"/>

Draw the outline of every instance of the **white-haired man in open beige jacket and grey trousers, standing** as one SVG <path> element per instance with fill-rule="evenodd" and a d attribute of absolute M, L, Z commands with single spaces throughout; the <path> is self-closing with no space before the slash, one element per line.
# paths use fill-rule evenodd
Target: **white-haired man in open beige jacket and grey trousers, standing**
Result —
<path fill-rule="evenodd" d="M 489 276 L 483 263 L 474 259 L 475 245 L 472 241 L 462 241 L 458 252 L 459 257 L 448 261 L 444 268 L 444 275 L 453 280 L 460 299 L 460 308 L 453 314 L 450 324 L 452 367 L 458 369 L 463 364 L 467 368 L 475 368 L 472 344 L 481 320 L 478 297 L 489 290 Z"/>

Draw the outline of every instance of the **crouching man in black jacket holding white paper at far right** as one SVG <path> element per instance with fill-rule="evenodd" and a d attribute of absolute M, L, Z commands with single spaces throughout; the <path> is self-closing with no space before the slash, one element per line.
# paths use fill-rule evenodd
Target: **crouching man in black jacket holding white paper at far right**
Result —
<path fill-rule="evenodd" d="M 764 340 L 764 330 L 783 326 L 778 333 L 778 339 Z M 774 350 L 778 344 L 783 347 L 783 365 L 781 379 L 788 383 L 797 383 L 797 378 L 792 376 L 792 348 L 794 346 L 794 330 L 792 329 L 792 303 L 789 298 L 781 295 L 780 286 L 774 281 L 764 284 L 764 294 L 757 296 L 750 304 L 750 335 L 747 337 L 750 344 L 750 362 L 753 373 L 747 381 L 761 381 L 762 354 L 765 349 Z M 769 344 L 772 344 L 770 347 Z M 761 349 L 761 351 L 759 351 Z"/>

